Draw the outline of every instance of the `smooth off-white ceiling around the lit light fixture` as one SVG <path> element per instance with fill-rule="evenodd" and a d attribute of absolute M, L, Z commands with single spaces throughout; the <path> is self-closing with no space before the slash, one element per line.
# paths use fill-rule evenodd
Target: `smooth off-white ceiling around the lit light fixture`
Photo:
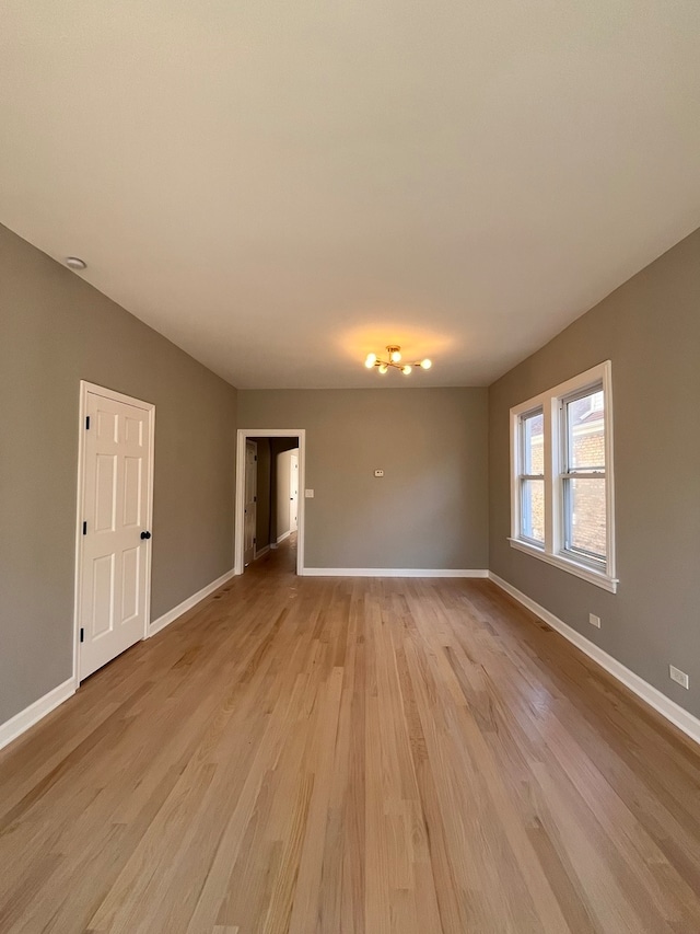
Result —
<path fill-rule="evenodd" d="M 240 388 L 492 381 L 700 224 L 698 0 L 5 0 L 0 221 Z"/>

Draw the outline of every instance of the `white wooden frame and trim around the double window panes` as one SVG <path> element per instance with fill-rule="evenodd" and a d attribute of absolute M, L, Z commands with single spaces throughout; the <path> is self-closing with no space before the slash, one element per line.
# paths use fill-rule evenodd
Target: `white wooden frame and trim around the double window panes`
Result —
<path fill-rule="evenodd" d="M 563 489 L 564 472 L 563 406 L 567 401 L 600 387 L 605 399 L 605 493 L 606 493 L 606 557 L 605 561 L 567 551 L 564 541 Z M 521 419 L 541 408 L 545 418 L 545 543 L 534 542 L 521 529 L 522 443 Z M 592 367 L 553 389 L 528 399 L 511 408 L 511 547 L 547 562 L 555 567 L 581 577 L 610 593 L 617 592 L 615 572 L 615 474 L 612 463 L 612 374 L 609 360 Z"/>

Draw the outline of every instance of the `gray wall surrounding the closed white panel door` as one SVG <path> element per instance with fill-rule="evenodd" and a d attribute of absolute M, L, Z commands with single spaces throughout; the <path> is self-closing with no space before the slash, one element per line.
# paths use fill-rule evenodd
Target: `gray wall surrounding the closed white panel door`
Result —
<path fill-rule="evenodd" d="M 151 619 L 233 566 L 236 391 L 0 227 L 0 723 L 71 676 L 81 379 L 156 406 Z"/>

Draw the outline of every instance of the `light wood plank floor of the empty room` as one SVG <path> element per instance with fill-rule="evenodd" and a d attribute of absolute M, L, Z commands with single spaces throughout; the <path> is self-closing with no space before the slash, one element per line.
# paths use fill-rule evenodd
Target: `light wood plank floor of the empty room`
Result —
<path fill-rule="evenodd" d="M 0 931 L 700 932 L 700 757 L 486 580 L 280 550 L 0 753 Z"/>

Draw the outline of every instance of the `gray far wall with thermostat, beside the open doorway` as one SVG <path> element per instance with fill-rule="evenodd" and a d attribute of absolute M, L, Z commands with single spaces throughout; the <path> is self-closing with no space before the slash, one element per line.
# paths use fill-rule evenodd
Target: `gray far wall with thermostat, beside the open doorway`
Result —
<path fill-rule="evenodd" d="M 307 567 L 485 568 L 487 400 L 468 388 L 242 390 L 238 425 L 306 429 Z"/>

